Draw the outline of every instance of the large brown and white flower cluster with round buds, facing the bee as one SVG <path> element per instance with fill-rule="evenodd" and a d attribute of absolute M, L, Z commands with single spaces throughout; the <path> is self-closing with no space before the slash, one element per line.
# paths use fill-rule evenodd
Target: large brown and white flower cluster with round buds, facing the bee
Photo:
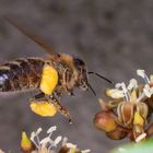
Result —
<path fill-rule="evenodd" d="M 108 102 L 99 99 L 102 110 L 95 115 L 94 126 L 104 131 L 113 140 L 130 138 L 140 142 L 153 134 L 151 115 L 153 113 L 153 75 L 144 70 L 137 70 L 144 84 L 138 84 L 131 79 L 129 84 L 117 83 L 114 89 L 107 89 Z"/>

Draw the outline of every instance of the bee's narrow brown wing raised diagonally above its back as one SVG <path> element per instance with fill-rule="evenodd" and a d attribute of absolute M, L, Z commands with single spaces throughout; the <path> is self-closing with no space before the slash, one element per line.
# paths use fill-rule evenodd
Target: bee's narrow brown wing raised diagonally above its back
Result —
<path fill-rule="evenodd" d="M 26 35 L 28 38 L 34 40 L 36 44 L 38 44 L 40 47 L 43 47 L 48 54 L 54 55 L 55 52 L 52 51 L 51 46 L 40 36 L 36 35 L 35 33 L 28 31 L 25 28 L 23 25 L 17 23 L 16 21 L 4 16 L 4 19 L 11 23 L 14 27 L 16 27 L 20 32 L 22 32 L 24 35 Z"/>

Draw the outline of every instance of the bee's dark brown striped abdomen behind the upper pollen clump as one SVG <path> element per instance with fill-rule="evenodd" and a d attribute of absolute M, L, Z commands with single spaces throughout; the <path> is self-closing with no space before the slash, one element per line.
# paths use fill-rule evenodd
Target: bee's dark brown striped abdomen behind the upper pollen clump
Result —
<path fill-rule="evenodd" d="M 0 66 L 0 91 L 19 91 L 38 87 L 45 61 L 16 59 Z"/>

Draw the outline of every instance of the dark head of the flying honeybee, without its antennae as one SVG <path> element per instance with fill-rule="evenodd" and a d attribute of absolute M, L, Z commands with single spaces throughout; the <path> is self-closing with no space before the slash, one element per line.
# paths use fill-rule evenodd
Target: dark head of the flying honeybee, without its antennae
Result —
<path fill-rule="evenodd" d="M 86 66 L 84 61 L 79 58 L 74 58 L 73 62 L 78 71 L 76 85 L 80 86 L 83 91 L 86 91 L 89 89 Z"/>

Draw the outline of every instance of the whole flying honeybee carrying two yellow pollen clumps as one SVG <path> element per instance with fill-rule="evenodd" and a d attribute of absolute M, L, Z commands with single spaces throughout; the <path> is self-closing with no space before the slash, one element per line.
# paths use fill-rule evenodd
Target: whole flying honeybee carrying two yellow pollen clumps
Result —
<path fill-rule="evenodd" d="M 38 90 L 31 98 L 31 108 L 40 116 L 54 116 L 57 111 L 71 122 L 69 111 L 60 99 L 62 95 L 73 95 L 75 87 L 82 91 L 89 89 L 95 94 L 89 83 L 85 62 L 66 54 L 56 54 L 50 45 L 40 36 L 27 31 L 16 21 L 5 17 L 9 23 L 20 30 L 28 38 L 43 47 L 50 56 L 48 58 L 15 59 L 0 66 L 0 92 Z M 94 73 L 109 83 L 108 79 Z"/>

